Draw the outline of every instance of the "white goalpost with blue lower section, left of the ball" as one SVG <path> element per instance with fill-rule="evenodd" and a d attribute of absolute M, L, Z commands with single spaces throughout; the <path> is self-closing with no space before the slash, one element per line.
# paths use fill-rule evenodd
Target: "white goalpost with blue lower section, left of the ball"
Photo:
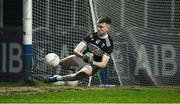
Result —
<path fill-rule="evenodd" d="M 25 80 L 32 76 L 32 0 L 23 0 L 23 61 Z"/>

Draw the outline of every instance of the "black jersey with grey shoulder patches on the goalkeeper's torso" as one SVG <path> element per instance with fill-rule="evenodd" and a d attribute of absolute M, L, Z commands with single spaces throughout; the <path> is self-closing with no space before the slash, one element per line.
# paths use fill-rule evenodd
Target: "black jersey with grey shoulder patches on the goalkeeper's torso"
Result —
<path fill-rule="evenodd" d="M 94 61 L 97 62 L 102 60 L 103 54 L 110 57 L 113 51 L 113 40 L 109 35 L 105 39 L 101 39 L 97 36 L 97 33 L 92 33 L 85 37 L 83 42 L 87 45 L 83 53 L 92 52 Z"/>

